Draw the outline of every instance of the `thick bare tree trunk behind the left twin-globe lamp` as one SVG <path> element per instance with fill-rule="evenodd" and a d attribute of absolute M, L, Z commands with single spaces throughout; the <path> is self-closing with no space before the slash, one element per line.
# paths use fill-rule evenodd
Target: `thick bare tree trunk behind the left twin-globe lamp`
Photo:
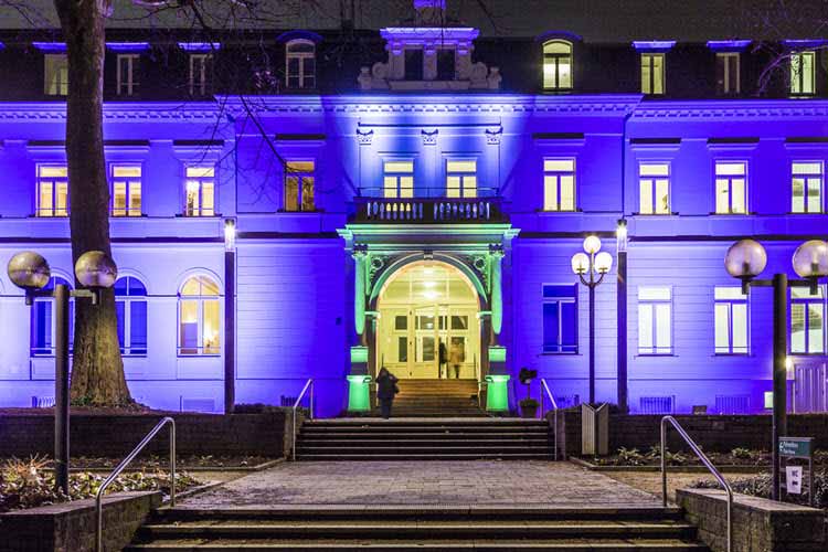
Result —
<path fill-rule="evenodd" d="M 55 0 L 68 57 L 66 157 L 70 178 L 72 259 L 87 251 L 112 255 L 109 184 L 104 159 L 104 23 L 112 0 Z M 115 295 L 98 305 L 75 302 L 72 401 L 93 405 L 132 402 L 118 343 Z"/>

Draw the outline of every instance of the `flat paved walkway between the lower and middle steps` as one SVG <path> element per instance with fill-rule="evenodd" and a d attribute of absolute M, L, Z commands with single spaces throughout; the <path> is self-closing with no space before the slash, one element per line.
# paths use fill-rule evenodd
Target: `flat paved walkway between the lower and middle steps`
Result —
<path fill-rule="evenodd" d="M 658 507 L 643 490 L 569 463 L 284 463 L 183 500 L 183 508 L 296 505 Z"/>

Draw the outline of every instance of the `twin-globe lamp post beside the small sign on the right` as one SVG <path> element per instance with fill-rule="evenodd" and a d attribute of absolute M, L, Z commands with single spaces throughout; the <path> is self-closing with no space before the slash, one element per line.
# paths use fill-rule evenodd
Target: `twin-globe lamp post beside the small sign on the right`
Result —
<path fill-rule="evenodd" d="M 787 290 L 789 287 L 808 287 L 817 293 L 819 278 L 828 276 L 828 243 L 820 240 L 805 242 L 794 253 L 794 272 L 802 279 L 788 279 L 785 273 L 774 274 L 772 279 L 756 279 L 767 265 L 767 253 L 758 242 L 741 240 L 733 244 L 724 256 L 728 274 L 742 280 L 742 293 L 751 287 L 773 287 L 773 425 L 771 461 L 773 487 L 771 498 L 779 499 L 779 436 L 787 432 Z"/>

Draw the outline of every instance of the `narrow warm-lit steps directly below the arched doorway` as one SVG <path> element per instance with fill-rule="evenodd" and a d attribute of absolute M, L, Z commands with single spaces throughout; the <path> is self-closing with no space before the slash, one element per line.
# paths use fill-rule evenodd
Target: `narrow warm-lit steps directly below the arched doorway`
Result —
<path fill-rule="evenodd" d="M 401 379 L 397 386 L 394 417 L 486 416 L 477 405 L 477 380 Z"/>

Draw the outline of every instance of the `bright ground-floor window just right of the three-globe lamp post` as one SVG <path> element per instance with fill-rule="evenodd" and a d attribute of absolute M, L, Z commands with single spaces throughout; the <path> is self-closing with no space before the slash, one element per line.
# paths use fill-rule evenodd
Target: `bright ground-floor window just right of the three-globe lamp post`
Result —
<path fill-rule="evenodd" d="M 638 354 L 672 354 L 672 289 L 638 288 Z"/>

